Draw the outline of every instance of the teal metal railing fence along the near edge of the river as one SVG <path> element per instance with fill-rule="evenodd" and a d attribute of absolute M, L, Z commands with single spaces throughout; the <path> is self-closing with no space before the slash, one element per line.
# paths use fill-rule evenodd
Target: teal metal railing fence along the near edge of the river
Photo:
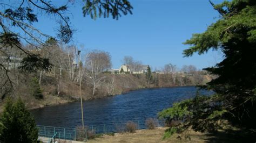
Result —
<path fill-rule="evenodd" d="M 154 125 L 157 127 L 165 126 L 164 120 L 153 119 Z M 137 130 L 146 129 L 146 120 L 130 120 L 136 125 Z M 120 121 L 112 124 L 102 124 L 86 126 L 85 128 L 64 128 L 52 126 L 37 126 L 39 129 L 39 137 L 51 139 L 55 137 L 59 140 L 87 140 L 93 134 L 107 134 L 126 131 L 127 121 Z"/>

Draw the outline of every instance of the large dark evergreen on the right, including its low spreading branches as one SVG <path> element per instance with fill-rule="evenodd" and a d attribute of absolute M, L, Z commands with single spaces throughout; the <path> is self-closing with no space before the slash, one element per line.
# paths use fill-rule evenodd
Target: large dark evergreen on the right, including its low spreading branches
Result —
<path fill-rule="evenodd" d="M 220 19 L 208 26 L 205 32 L 193 34 L 185 42 L 191 47 L 185 49 L 184 55 L 204 54 L 209 49 L 223 51 L 224 60 L 205 69 L 218 75 L 204 86 L 217 94 L 197 96 L 175 104 L 161 112 L 160 117 L 167 121 L 182 118 L 183 129 L 192 126 L 201 132 L 216 131 L 221 120 L 255 130 L 256 1 L 233 0 L 211 4 L 220 13 Z"/>

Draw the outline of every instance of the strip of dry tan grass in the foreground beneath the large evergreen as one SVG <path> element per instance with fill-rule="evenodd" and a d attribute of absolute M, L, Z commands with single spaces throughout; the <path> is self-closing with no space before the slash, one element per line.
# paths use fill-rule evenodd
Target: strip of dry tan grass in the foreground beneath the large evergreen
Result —
<path fill-rule="evenodd" d="M 88 142 L 255 142 L 253 135 L 244 134 L 243 130 L 228 127 L 228 130 L 219 130 L 214 134 L 200 133 L 188 130 L 182 134 L 173 134 L 171 138 L 164 139 L 164 131 L 168 127 L 158 127 L 155 130 L 137 130 L 136 133 L 115 133 L 114 136 L 103 135 Z"/>

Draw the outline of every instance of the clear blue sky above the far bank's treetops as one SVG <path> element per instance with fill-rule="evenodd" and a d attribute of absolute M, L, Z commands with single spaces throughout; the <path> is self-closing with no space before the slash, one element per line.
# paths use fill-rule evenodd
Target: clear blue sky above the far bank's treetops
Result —
<path fill-rule="evenodd" d="M 100 49 L 112 56 L 113 68 L 122 65 L 125 55 L 145 65 L 160 69 L 166 63 L 178 67 L 195 65 L 199 69 L 214 66 L 221 60 L 220 52 L 209 51 L 204 55 L 194 54 L 183 58 L 192 33 L 204 32 L 207 25 L 218 19 L 207 0 L 130 0 L 133 15 L 122 16 L 119 20 L 83 17 L 81 2 L 70 5 L 70 21 L 77 30 L 73 44 L 84 45 L 85 49 Z M 213 0 L 214 3 L 223 1 Z M 54 20 L 53 20 L 54 21 Z M 56 23 L 39 18 L 36 24 L 43 32 L 55 34 Z"/>

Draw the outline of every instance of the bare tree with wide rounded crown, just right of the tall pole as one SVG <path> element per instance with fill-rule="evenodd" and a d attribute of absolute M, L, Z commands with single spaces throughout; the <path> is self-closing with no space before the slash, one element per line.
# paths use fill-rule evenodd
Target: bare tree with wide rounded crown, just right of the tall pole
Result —
<path fill-rule="evenodd" d="M 86 69 L 85 76 L 87 81 L 92 84 L 93 92 L 92 95 L 95 95 L 95 90 L 98 88 L 105 78 L 105 76 L 100 75 L 103 71 L 111 68 L 111 56 L 108 52 L 104 51 L 92 51 L 89 53 L 85 59 Z"/>

